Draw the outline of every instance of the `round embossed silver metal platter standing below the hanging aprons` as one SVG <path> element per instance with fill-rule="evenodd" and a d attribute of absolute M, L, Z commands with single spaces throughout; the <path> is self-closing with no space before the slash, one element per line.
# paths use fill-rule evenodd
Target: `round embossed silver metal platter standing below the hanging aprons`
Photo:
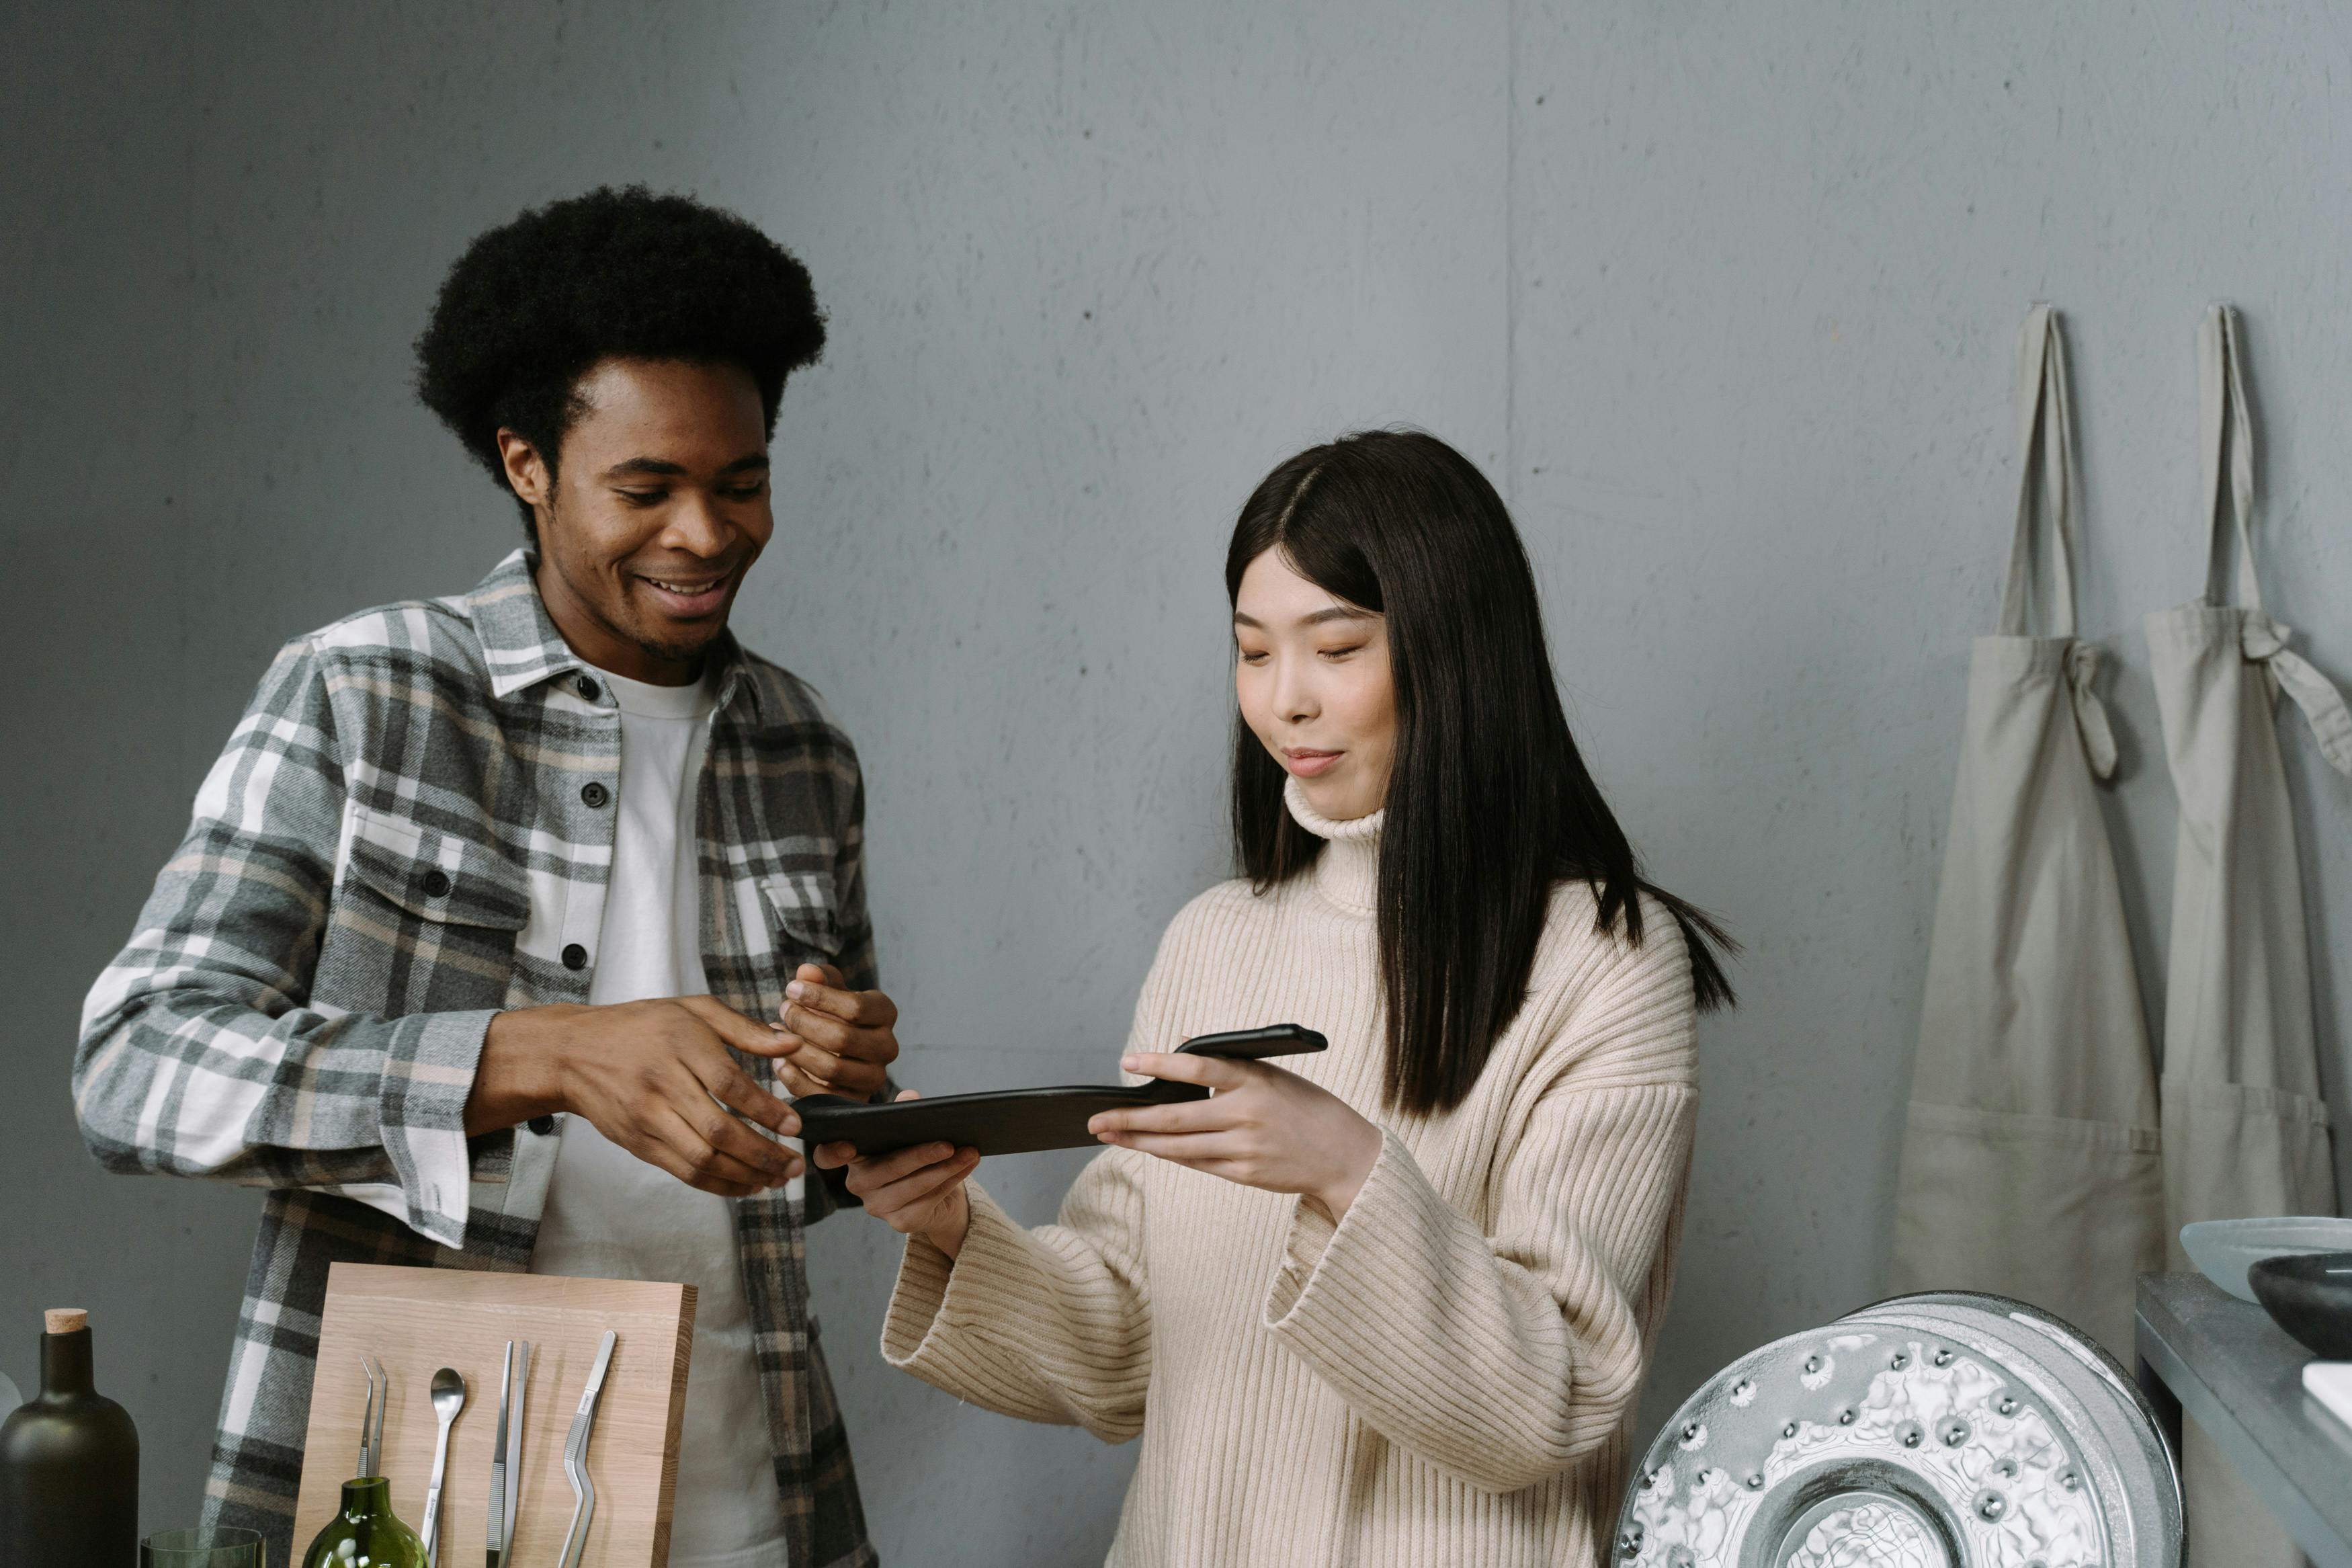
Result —
<path fill-rule="evenodd" d="M 2180 1476 L 2114 1356 L 1936 1291 L 1755 1349 L 1665 1425 L 1616 1568 L 2180 1568 Z"/>

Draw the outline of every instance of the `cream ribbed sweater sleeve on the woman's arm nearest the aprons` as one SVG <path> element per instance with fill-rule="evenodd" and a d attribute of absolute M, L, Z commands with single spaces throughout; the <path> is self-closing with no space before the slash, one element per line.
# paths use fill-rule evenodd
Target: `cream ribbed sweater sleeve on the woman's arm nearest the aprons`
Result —
<path fill-rule="evenodd" d="M 1498 1152 L 1494 1234 L 1397 1133 L 1334 1229 L 1301 1201 L 1265 1326 L 1392 1443 L 1510 1493 L 1625 1425 L 1642 1295 L 1682 1201 L 1698 1088 L 1689 961 L 1628 954 L 1538 1060 L 1566 1065 Z"/>

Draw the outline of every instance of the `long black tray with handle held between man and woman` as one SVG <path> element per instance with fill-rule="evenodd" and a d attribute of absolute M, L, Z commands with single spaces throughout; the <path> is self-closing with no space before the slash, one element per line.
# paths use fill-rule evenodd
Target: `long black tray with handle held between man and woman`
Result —
<path fill-rule="evenodd" d="M 1322 1051 L 1324 1037 L 1296 1023 L 1230 1034 L 1200 1034 L 1178 1051 L 1261 1060 Z M 1058 1088 L 1000 1088 L 976 1095 L 941 1095 L 936 1100 L 901 1100 L 866 1105 L 842 1095 L 802 1095 L 800 1138 L 814 1150 L 821 1143 L 847 1143 L 861 1157 L 889 1154 L 917 1143 L 953 1143 L 981 1154 L 1033 1154 L 1037 1150 L 1082 1150 L 1094 1143 L 1087 1119 L 1131 1105 L 1174 1105 L 1207 1100 L 1200 1084 L 1152 1079 L 1148 1084 L 1065 1084 Z"/>

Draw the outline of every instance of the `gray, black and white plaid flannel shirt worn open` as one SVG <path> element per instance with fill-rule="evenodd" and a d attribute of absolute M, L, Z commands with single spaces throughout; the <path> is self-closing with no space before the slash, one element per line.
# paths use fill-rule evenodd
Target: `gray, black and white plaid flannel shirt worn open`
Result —
<path fill-rule="evenodd" d="M 621 783 L 619 708 L 532 567 L 289 642 L 82 1009 L 101 1164 L 268 1187 L 205 1521 L 261 1530 L 273 1563 L 296 1549 L 327 1265 L 532 1262 L 560 1119 L 468 1138 L 466 1095 L 494 1013 L 588 999 Z M 875 983 L 863 783 L 809 686 L 731 637 L 717 658 L 703 973 L 774 1018 L 802 961 Z M 802 1244 L 835 1197 L 804 1187 L 734 1201 L 736 1241 L 793 1563 L 849 1568 L 875 1556 Z"/>

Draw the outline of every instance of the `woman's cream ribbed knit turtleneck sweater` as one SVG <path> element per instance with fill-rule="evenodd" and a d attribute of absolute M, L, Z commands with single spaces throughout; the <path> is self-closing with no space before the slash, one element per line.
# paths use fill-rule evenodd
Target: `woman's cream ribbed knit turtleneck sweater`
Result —
<path fill-rule="evenodd" d="M 1296 1197 L 1105 1150 L 1061 1222 L 978 1185 L 955 1262 L 910 1241 L 882 1354 L 957 1399 L 1143 1436 L 1115 1566 L 1602 1563 L 1691 1159 L 1691 969 L 1555 891 L 1526 1006 L 1451 1112 L 1381 1107 L 1381 818 L 1291 816 L 1312 875 L 1169 926 L 1129 1048 L 1268 1023 L 1383 1126 L 1338 1227 Z"/>

